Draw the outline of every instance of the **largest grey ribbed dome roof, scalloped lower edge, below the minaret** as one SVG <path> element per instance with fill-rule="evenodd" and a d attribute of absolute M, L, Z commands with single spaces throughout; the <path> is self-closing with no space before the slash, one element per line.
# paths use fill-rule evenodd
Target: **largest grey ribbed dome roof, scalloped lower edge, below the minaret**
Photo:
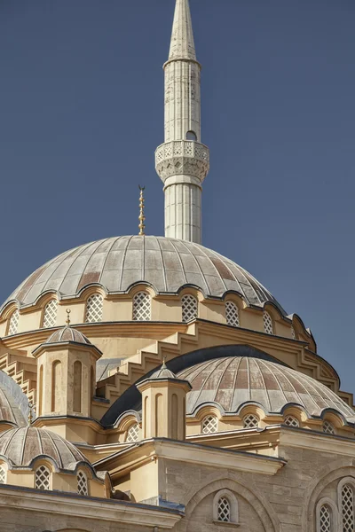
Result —
<path fill-rule="evenodd" d="M 182 286 L 199 287 L 206 296 L 241 293 L 249 305 L 271 301 L 272 294 L 248 271 L 207 247 L 165 237 L 114 237 L 75 247 L 30 275 L 4 302 L 36 303 L 47 291 L 75 297 L 85 286 L 99 284 L 107 293 L 126 293 L 146 282 L 157 293 L 177 293 Z M 3 305 L 3 306 L 4 306 Z"/>

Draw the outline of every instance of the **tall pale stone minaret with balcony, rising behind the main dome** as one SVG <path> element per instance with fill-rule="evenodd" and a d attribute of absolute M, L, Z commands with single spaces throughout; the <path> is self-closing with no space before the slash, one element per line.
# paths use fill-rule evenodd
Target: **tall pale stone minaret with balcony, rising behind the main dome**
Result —
<path fill-rule="evenodd" d="M 201 144 L 201 65 L 188 0 L 177 0 L 164 73 L 165 142 L 155 152 L 155 169 L 164 184 L 165 236 L 201 243 L 209 148 Z"/>

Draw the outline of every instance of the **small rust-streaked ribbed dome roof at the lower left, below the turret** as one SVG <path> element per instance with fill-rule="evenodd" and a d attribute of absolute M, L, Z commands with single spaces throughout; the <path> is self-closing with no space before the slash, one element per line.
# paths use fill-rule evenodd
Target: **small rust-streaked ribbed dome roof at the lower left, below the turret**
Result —
<path fill-rule="evenodd" d="M 33 426 L 12 428 L 0 434 L 0 455 L 16 466 L 28 466 L 34 458 L 43 455 L 52 458 L 59 469 L 73 470 L 78 462 L 87 462 L 72 443 Z"/>

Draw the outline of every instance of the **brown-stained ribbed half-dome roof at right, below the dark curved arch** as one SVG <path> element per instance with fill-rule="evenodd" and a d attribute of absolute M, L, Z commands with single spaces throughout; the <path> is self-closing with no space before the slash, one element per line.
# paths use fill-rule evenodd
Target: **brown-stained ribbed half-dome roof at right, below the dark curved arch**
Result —
<path fill-rule="evenodd" d="M 194 365 L 177 374 L 190 381 L 186 411 L 204 403 L 217 403 L 225 412 L 237 412 L 245 403 L 259 403 L 265 412 L 280 413 L 289 403 L 319 417 L 325 409 L 355 422 L 355 412 L 332 390 L 288 367 L 248 356 L 224 357 Z"/>

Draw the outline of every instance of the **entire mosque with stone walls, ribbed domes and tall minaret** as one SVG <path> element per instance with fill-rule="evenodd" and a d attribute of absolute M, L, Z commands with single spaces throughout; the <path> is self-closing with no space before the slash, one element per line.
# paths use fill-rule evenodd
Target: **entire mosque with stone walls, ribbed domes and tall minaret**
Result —
<path fill-rule="evenodd" d="M 0 532 L 353 532 L 355 411 L 302 318 L 201 245 L 201 65 L 176 0 L 165 236 L 70 249 L 0 309 Z M 221 231 L 223 228 L 221 228 Z"/>

